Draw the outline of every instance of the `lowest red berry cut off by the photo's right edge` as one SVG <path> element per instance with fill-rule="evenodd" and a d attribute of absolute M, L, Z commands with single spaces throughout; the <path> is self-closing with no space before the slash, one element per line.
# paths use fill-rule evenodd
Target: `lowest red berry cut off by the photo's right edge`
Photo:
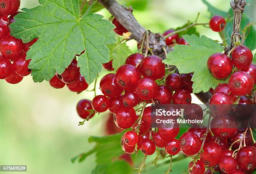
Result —
<path fill-rule="evenodd" d="M 242 147 L 236 154 L 239 169 L 253 170 L 256 168 L 256 149 L 252 146 Z"/>

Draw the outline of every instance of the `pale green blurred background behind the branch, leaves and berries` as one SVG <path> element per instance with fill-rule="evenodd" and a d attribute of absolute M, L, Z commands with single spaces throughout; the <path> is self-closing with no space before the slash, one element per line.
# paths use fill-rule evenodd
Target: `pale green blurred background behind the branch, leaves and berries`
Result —
<path fill-rule="evenodd" d="M 137 20 L 152 32 L 164 32 L 169 28 L 182 26 L 187 20 L 195 20 L 200 12 L 199 22 L 208 22 L 209 13 L 201 0 L 121 0 L 134 5 L 133 14 Z M 208 0 L 215 7 L 228 11 L 229 1 Z M 255 22 L 256 1 L 248 1 L 246 12 Z M 21 7 L 38 5 L 37 0 L 21 0 Z M 100 14 L 110 17 L 106 10 Z M 220 40 L 218 33 L 204 27 L 197 27 L 201 35 Z M 128 43 L 136 49 L 135 42 Z M 101 76 L 107 72 L 102 72 Z M 92 85 L 89 89 L 92 89 Z M 100 91 L 97 90 L 97 94 Z M 27 165 L 28 174 L 90 174 L 95 167 L 92 155 L 82 163 L 72 164 L 71 157 L 88 151 L 89 136 L 105 134 L 106 114 L 96 115 L 84 126 L 78 126 L 81 119 L 76 113 L 80 99 L 92 99 L 93 92 L 77 95 L 64 89 L 53 89 L 48 82 L 33 83 L 31 76 L 18 85 L 0 80 L 0 165 Z M 193 98 L 194 102 L 199 101 Z M 189 159 L 173 164 L 173 173 L 187 170 Z M 163 173 L 168 166 L 156 171 Z M 8 172 L 9 174 L 17 172 Z"/>

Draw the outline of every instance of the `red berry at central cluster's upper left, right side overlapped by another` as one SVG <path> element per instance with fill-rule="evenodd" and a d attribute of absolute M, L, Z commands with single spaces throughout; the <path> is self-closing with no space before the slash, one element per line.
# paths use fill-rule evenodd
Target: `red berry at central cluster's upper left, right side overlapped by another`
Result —
<path fill-rule="evenodd" d="M 100 80 L 100 90 L 108 97 L 116 97 L 123 92 L 123 89 L 117 85 L 114 73 L 110 73 L 102 77 Z"/>

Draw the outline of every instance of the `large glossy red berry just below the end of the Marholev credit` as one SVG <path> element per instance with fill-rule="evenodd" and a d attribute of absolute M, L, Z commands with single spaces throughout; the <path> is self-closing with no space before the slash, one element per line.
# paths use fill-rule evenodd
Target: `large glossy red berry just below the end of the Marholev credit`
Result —
<path fill-rule="evenodd" d="M 185 155 L 195 155 L 201 148 L 201 139 L 192 132 L 185 132 L 179 138 L 179 148 Z"/>

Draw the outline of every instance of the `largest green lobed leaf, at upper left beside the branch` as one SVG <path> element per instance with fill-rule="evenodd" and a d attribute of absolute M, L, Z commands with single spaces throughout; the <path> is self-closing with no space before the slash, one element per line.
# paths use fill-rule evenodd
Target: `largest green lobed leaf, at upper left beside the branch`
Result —
<path fill-rule="evenodd" d="M 41 6 L 22 9 L 10 25 L 11 34 L 27 43 L 38 38 L 27 52 L 31 59 L 34 82 L 51 80 L 55 72 L 61 74 L 76 54 L 78 66 L 87 83 L 93 82 L 102 63 L 109 61 L 106 45 L 115 43 L 115 26 L 102 15 L 79 17 L 78 0 L 40 0 Z"/>

